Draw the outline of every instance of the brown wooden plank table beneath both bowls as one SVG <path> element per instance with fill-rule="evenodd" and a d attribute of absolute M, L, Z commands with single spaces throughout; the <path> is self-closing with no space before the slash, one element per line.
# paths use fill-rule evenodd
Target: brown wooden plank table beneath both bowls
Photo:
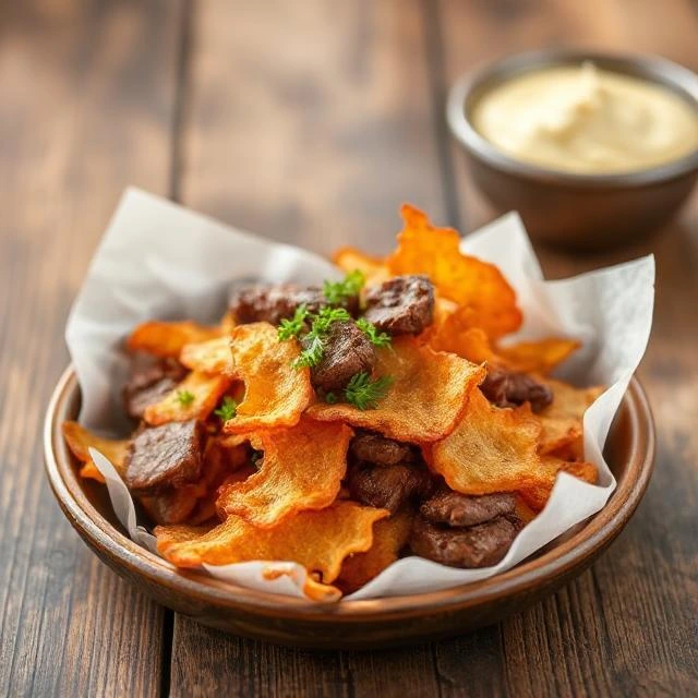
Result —
<path fill-rule="evenodd" d="M 443 119 L 461 71 L 551 44 L 698 70 L 698 5 L 652 0 L 55 0 L 0 9 L 0 688 L 60 696 L 696 695 L 698 201 L 651 243 L 542 253 L 566 276 L 653 251 L 640 370 L 650 490 L 612 550 L 544 603 L 456 640 L 311 653 L 226 637 L 104 567 L 53 502 L 39 430 L 63 327 L 124 186 L 279 240 L 378 252 L 414 202 L 493 216 Z M 167 230 L 163 231 L 167 244 Z"/>

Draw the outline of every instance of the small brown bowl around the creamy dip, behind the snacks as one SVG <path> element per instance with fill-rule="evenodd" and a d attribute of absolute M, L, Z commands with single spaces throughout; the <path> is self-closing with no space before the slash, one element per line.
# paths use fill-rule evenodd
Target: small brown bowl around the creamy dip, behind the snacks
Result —
<path fill-rule="evenodd" d="M 662 58 L 576 50 L 519 53 L 467 74 L 452 88 L 447 119 L 464 146 L 478 188 L 501 210 L 518 210 L 534 240 L 575 250 L 618 245 L 658 229 L 677 213 L 698 177 L 698 149 L 651 169 L 624 174 L 574 174 L 514 159 L 476 131 L 470 115 L 488 91 L 532 70 L 579 65 L 658 83 L 698 115 L 698 75 Z M 513 115 L 516 118 L 516 115 Z"/>

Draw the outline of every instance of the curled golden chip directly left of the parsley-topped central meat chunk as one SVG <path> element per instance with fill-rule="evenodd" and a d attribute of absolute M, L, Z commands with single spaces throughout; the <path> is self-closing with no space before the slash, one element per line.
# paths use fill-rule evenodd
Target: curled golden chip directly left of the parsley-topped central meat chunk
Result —
<path fill-rule="evenodd" d="M 232 359 L 244 381 L 244 399 L 224 431 L 240 434 L 293 426 L 313 399 L 309 369 L 296 369 L 298 341 L 279 341 L 269 323 L 240 325 L 231 335 Z"/>

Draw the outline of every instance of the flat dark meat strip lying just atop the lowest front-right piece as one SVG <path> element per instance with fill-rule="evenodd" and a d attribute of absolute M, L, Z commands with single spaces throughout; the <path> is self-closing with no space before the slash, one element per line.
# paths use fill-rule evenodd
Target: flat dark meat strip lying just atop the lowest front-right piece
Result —
<path fill-rule="evenodd" d="M 471 496 L 441 489 L 422 503 L 420 514 L 432 524 L 476 526 L 504 514 L 514 514 L 516 497 L 508 493 Z"/>

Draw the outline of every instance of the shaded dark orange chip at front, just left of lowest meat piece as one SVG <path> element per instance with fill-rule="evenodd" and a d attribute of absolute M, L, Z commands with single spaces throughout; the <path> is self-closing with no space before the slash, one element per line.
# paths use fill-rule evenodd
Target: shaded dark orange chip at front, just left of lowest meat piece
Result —
<path fill-rule="evenodd" d="M 399 512 L 375 524 L 373 545 L 365 553 L 349 555 L 341 565 L 336 583 L 345 593 L 360 589 L 398 558 L 410 535 L 412 517 L 411 512 Z"/>

